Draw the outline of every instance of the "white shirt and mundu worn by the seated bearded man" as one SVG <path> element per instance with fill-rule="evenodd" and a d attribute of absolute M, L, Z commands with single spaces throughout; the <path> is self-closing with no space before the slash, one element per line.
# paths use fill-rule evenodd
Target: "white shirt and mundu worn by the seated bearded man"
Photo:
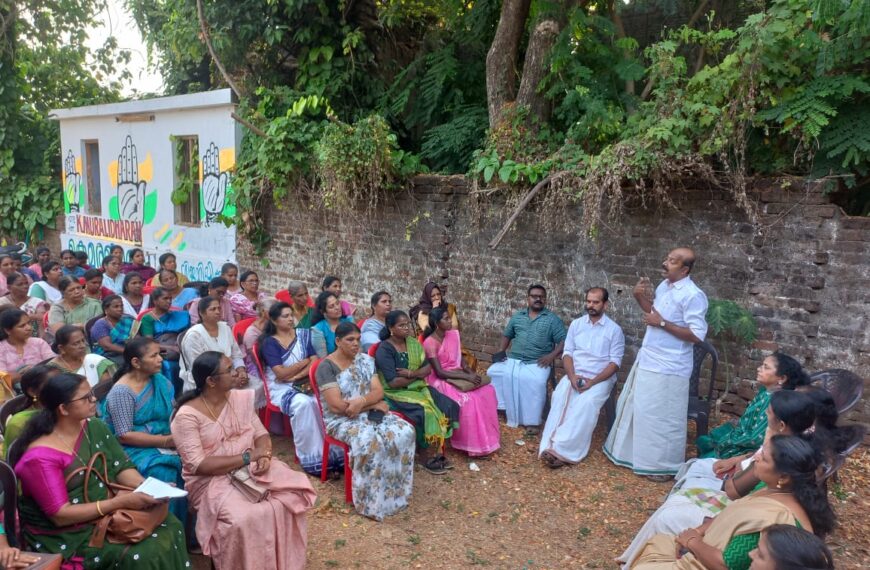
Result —
<path fill-rule="evenodd" d="M 563 356 L 574 361 L 574 372 L 582 378 L 594 378 L 611 362 L 619 367 L 625 352 L 622 328 L 602 315 L 592 323 L 589 315 L 571 322 L 565 338 Z M 588 390 L 578 393 L 563 376 L 553 391 L 550 415 L 544 426 L 538 455 L 545 451 L 566 463 L 579 463 L 589 453 L 592 432 L 601 406 L 610 396 L 616 374 Z"/>

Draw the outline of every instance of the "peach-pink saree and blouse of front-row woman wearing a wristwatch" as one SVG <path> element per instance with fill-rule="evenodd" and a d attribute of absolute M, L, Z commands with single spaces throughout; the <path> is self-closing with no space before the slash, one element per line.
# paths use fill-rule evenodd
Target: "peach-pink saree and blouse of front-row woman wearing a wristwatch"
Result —
<path fill-rule="evenodd" d="M 303 568 L 306 511 L 316 498 L 305 475 L 273 458 L 268 471 L 254 476 L 269 488 L 269 496 L 252 503 L 227 475 L 195 474 L 207 457 L 240 455 L 268 433 L 254 414 L 253 392 L 231 390 L 227 398 L 217 422 L 192 406 L 182 406 L 172 421 L 202 551 L 217 570 Z"/>

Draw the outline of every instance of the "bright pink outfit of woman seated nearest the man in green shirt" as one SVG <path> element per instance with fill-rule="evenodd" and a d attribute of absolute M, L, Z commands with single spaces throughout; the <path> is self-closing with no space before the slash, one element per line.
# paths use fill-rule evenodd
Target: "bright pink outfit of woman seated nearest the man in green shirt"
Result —
<path fill-rule="evenodd" d="M 444 332 L 444 340 L 439 342 L 434 335 L 423 341 L 426 358 L 437 358 L 441 368 L 462 369 L 462 342 L 459 331 L 451 329 Z M 453 430 L 450 445 L 469 455 L 489 455 L 501 447 L 498 425 L 498 400 L 492 384 L 463 392 L 438 378 L 433 371 L 426 378 L 429 386 L 435 388 L 459 404 L 459 427 Z"/>

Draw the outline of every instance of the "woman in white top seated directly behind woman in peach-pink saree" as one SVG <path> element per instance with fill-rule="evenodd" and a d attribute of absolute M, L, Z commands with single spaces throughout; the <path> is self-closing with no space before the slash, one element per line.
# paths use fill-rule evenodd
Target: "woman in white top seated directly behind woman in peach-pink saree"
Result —
<path fill-rule="evenodd" d="M 257 409 L 266 405 L 263 383 L 249 382 L 245 368 L 245 358 L 233 338 L 233 331 L 221 320 L 220 302 L 214 297 L 203 297 L 197 303 L 199 324 L 193 325 L 184 335 L 181 343 L 181 379 L 184 391 L 195 388 L 190 367 L 196 357 L 204 352 L 220 352 L 233 361 L 239 384 L 237 388 L 248 388 L 254 392 L 254 405 Z"/>

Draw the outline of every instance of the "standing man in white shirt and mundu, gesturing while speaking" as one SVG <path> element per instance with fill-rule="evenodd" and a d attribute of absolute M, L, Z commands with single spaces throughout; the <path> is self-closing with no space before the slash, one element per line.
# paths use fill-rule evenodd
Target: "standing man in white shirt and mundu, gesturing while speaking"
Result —
<path fill-rule="evenodd" d="M 686 456 L 686 412 L 692 345 L 707 335 L 707 296 L 689 273 L 695 252 L 681 247 L 662 263 L 664 281 L 634 287 L 646 334 L 616 408 L 604 454 L 654 481 L 676 474 Z"/>

